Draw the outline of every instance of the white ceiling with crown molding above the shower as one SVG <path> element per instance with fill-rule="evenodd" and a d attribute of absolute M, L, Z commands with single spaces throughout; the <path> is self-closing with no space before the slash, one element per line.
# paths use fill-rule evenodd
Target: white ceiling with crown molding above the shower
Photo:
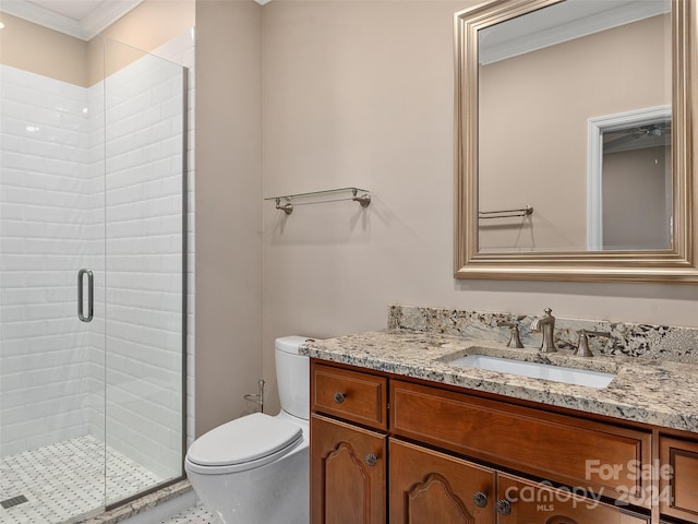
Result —
<path fill-rule="evenodd" d="M 89 40 L 143 0 L 0 0 L 0 11 Z"/>

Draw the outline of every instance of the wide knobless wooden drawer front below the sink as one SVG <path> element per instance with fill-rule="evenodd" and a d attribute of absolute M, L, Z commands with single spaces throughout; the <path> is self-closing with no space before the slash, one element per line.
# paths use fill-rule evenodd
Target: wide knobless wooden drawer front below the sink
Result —
<path fill-rule="evenodd" d="M 650 505 L 643 493 L 651 486 L 641 475 L 641 466 L 651 464 L 650 433 L 401 381 L 390 384 L 397 436 Z"/>

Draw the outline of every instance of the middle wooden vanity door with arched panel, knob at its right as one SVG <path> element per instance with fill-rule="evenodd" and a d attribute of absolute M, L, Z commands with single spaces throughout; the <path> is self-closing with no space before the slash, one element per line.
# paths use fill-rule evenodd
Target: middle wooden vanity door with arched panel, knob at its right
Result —
<path fill-rule="evenodd" d="M 492 469 L 394 439 L 388 452 L 390 524 L 494 523 Z"/>

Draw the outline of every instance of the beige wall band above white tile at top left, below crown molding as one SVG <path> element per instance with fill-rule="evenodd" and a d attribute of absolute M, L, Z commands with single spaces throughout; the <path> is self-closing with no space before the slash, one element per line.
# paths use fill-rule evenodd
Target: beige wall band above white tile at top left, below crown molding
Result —
<path fill-rule="evenodd" d="M 0 13 L 0 63 L 87 87 L 87 43 Z"/>

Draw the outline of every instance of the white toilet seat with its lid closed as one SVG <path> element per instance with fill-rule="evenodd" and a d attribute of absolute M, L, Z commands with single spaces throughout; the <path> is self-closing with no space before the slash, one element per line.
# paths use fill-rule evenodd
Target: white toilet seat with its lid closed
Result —
<path fill-rule="evenodd" d="M 191 472 L 208 475 L 243 472 L 274 462 L 303 441 L 302 429 L 255 413 L 218 426 L 194 441 L 186 453 Z"/>

